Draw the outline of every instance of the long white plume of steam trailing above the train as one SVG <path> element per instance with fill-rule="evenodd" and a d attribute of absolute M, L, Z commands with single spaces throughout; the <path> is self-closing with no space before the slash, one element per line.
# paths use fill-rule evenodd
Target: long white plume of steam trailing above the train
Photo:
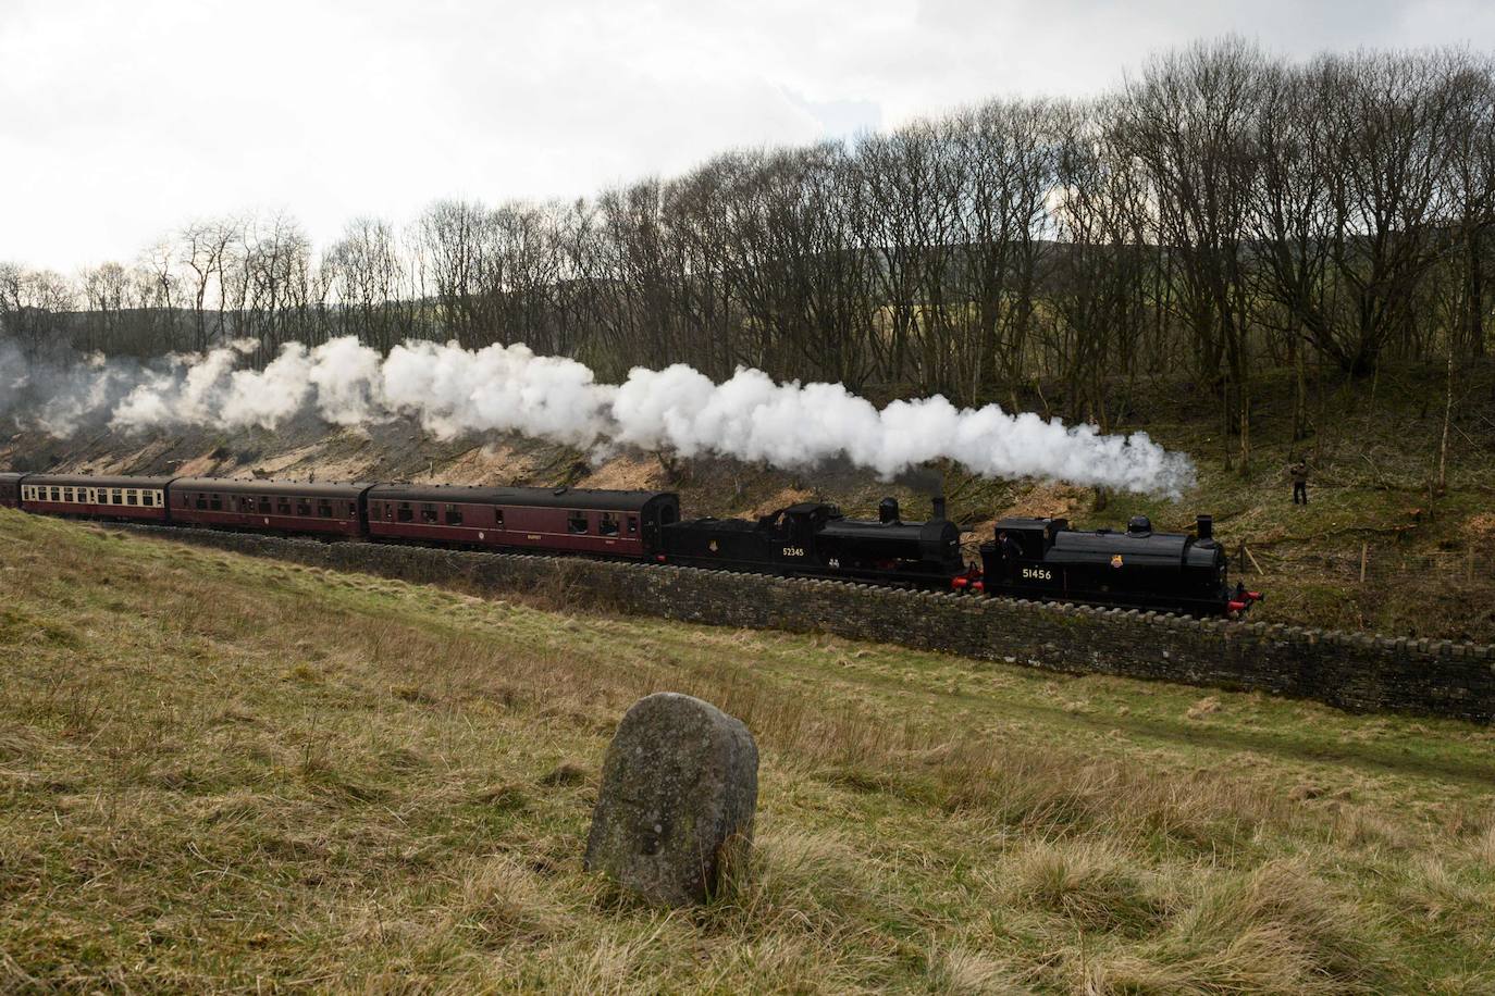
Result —
<path fill-rule="evenodd" d="M 351 336 L 315 348 L 289 343 L 263 370 L 241 369 L 241 360 L 235 345 L 144 366 L 99 358 L 37 366 L 0 342 L 0 414 L 10 406 L 22 423 L 66 436 L 94 418 L 121 430 L 275 429 L 311 408 L 338 426 L 413 415 L 441 438 L 517 432 L 589 449 L 719 454 L 782 469 L 849 460 L 882 478 L 948 458 L 982 476 L 1172 497 L 1195 473 L 1186 455 L 1147 433 L 1103 436 L 997 405 L 958 409 L 937 396 L 878 409 L 839 384 L 779 384 L 750 369 L 713 384 L 685 364 L 638 367 L 614 385 L 598 384 L 576 360 L 523 345 L 469 351 L 408 342 L 381 357 Z M 19 406 L 21 394 L 39 400 Z"/>

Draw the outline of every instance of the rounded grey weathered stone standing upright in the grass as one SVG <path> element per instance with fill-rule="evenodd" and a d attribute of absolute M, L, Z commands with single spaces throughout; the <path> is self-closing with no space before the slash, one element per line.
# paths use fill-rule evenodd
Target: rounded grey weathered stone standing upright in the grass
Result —
<path fill-rule="evenodd" d="M 661 691 L 617 726 L 586 841 L 586 868 L 655 903 L 704 902 L 746 860 L 758 745 L 709 702 Z"/>

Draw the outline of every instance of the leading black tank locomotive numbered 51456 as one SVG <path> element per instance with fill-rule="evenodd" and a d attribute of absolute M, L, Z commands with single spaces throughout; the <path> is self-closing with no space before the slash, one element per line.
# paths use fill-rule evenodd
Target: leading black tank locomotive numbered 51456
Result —
<path fill-rule="evenodd" d="M 1063 518 L 1005 518 L 981 547 L 988 593 L 1226 615 L 1259 596 L 1229 585 L 1224 550 L 1208 515 L 1197 535 L 1154 533 L 1145 515 L 1126 532 L 1073 530 Z"/>

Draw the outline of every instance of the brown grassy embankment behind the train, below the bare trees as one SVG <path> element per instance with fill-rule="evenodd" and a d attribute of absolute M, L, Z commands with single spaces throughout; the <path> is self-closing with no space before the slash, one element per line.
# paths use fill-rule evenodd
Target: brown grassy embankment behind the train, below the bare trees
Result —
<path fill-rule="evenodd" d="M 1269 593 L 1256 618 L 1495 642 L 1495 363 L 1456 370 L 1447 432 L 1447 375 L 1435 367 L 1311 381 L 1310 433 L 1299 441 L 1292 394 L 1286 375 L 1256 385 L 1253 461 L 1242 475 L 1238 461 L 1226 467 L 1238 441 L 1221 436 L 1211 390 L 1178 381 L 1118 385 L 1109 430 L 1145 430 L 1195 458 L 1199 487 L 1180 502 L 981 481 L 957 467 L 879 482 L 851 467 L 788 473 L 722 458 L 599 458 L 517 438 L 438 439 L 410 423 L 332 430 L 314 418 L 277 432 L 96 429 L 69 441 L 0 426 L 0 469 L 670 488 L 688 515 L 762 514 L 809 497 L 870 515 L 891 493 L 915 518 L 927 512 L 930 491 L 943 488 L 951 514 L 972 530 L 972 555 L 999 515 L 1066 515 L 1099 527 L 1145 512 L 1160 527 L 1186 530 L 1196 514 L 1211 512 L 1235 553 L 1233 569 Z M 1058 402 L 1049 388 L 1020 403 L 1048 412 Z M 1296 457 L 1313 467 L 1307 508 L 1290 503 L 1283 473 Z"/>

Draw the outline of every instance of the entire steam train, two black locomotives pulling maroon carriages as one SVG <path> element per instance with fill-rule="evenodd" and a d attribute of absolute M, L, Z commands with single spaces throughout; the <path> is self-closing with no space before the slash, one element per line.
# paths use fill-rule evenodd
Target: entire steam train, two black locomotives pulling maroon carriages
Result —
<path fill-rule="evenodd" d="M 0 473 L 0 506 L 82 518 L 239 532 L 649 560 L 715 570 L 836 578 L 972 594 L 1239 615 L 1262 596 L 1229 587 L 1224 550 L 1200 515 L 1195 535 L 1073 530 L 1063 518 L 1005 518 L 966 564 L 960 529 L 934 499 L 903 521 L 801 502 L 758 520 L 680 518 L 668 491 L 317 484 L 224 478 Z"/>

